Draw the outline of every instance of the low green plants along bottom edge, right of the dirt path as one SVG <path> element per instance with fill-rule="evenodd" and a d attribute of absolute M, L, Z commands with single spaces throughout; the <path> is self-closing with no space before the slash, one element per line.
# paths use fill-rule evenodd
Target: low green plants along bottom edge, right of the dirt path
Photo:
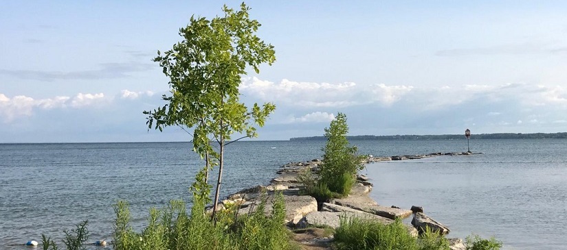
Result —
<path fill-rule="evenodd" d="M 335 232 L 335 247 L 345 250 L 449 250 L 449 241 L 444 237 L 425 229 L 414 238 L 400 220 L 388 225 L 362 218 L 341 218 L 341 225 Z M 482 239 L 477 235 L 467 237 L 467 250 L 498 250 L 502 242 L 494 238 Z"/>

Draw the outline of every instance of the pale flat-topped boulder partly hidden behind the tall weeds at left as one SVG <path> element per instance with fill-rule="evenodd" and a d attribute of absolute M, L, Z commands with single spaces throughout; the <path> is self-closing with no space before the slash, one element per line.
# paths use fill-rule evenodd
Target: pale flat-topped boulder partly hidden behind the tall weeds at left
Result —
<path fill-rule="evenodd" d="M 285 223 L 298 223 L 305 214 L 317 211 L 317 201 L 315 198 L 309 195 L 284 195 L 285 202 Z M 271 204 L 274 202 L 274 195 L 269 195 L 267 197 L 266 203 L 266 213 L 271 213 Z M 238 214 L 248 214 L 253 212 L 258 208 L 258 203 L 256 205 L 249 205 L 247 208 L 241 208 L 238 210 Z"/>

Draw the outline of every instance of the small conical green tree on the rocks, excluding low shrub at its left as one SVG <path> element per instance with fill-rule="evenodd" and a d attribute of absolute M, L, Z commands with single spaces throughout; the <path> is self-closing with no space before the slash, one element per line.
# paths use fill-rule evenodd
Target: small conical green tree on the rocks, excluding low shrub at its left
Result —
<path fill-rule="evenodd" d="M 319 183 L 340 195 L 351 192 L 357 171 L 364 168 L 357 148 L 351 147 L 346 140 L 347 133 L 346 115 L 339 112 L 329 128 L 325 128 L 327 142 L 322 149 L 323 164 L 319 169 Z"/>

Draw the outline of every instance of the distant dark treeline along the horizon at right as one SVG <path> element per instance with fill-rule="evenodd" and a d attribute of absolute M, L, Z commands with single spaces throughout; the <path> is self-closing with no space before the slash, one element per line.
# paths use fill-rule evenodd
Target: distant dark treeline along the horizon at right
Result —
<path fill-rule="evenodd" d="M 465 140 L 465 134 L 395 135 L 395 136 L 346 136 L 348 140 Z M 565 139 L 567 132 L 534 134 L 472 134 L 471 139 Z M 325 136 L 296 137 L 289 140 L 326 140 Z"/>

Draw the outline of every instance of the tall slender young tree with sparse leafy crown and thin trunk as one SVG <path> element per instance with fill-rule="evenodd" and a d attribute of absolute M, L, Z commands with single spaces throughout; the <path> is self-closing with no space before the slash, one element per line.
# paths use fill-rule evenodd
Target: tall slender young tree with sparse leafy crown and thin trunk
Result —
<path fill-rule="evenodd" d="M 197 198 L 208 200 L 208 172 L 219 165 L 213 218 L 219 201 L 225 146 L 257 136 L 254 124 L 262 127 L 276 108 L 272 103 L 261 107 L 254 103 L 249 109 L 239 100 L 238 86 L 246 75 L 245 69 L 251 67 L 259 73 L 260 64 L 271 65 L 276 60 L 274 47 L 256 36 L 260 23 L 249 19 L 249 8 L 244 3 L 240 7 L 235 11 L 225 5 L 224 16 L 211 20 L 192 16 L 187 27 L 179 29 L 184 40 L 169 51 L 157 51 L 154 61 L 170 78 L 171 95 L 162 97 L 168 104 L 144 111 L 148 128 L 155 126 L 162 131 L 176 125 L 192 129 L 193 151 L 205 158 L 205 167 L 192 186 Z M 232 140 L 233 134 L 242 137 Z M 218 147 L 214 149 L 211 142 Z"/>

